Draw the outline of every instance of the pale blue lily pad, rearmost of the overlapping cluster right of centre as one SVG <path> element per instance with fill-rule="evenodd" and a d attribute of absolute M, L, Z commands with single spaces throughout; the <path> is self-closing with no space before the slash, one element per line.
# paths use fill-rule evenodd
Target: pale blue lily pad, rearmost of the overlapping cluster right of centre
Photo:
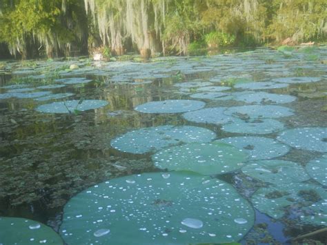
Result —
<path fill-rule="evenodd" d="M 240 96 L 235 96 L 234 98 L 237 101 L 244 101 L 246 103 L 255 103 L 255 104 L 284 104 L 290 103 L 297 99 L 297 97 L 291 95 L 278 95 L 270 94 L 268 92 L 255 92 Z"/>

